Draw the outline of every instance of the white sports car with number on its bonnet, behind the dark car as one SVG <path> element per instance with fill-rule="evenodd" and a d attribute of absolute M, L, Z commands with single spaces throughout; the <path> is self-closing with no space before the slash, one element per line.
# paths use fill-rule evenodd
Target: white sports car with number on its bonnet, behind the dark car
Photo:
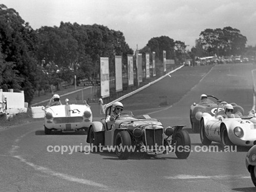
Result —
<path fill-rule="evenodd" d="M 47 105 L 45 111 L 45 134 L 52 131 L 75 132 L 84 130 L 88 132 L 92 123 L 92 111 L 87 103 Z"/>

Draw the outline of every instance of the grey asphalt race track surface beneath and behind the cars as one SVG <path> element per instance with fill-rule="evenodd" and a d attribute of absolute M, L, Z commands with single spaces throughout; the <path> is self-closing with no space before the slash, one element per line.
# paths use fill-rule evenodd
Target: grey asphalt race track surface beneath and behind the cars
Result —
<path fill-rule="evenodd" d="M 80 146 L 88 145 L 86 135 L 45 135 L 42 121 L 1 131 L 0 191 L 255 191 L 245 167 L 248 149 L 221 152 L 213 143 L 219 152 L 200 151 L 199 134 L 190 131 L 189 123 L 189 107 L 202 93 L 236 102 L 248 112 L 255 68 L 250 63 L 184 67 L 122 100 L 127 110 L 150 114 L 165 126 L 186 124 L 193 152 L 185 160 L 175 154 L 148 158 L 134 153 L 124 161 L 109 152 L 84 154 Z M 168 105 L 159 107 L 163 95 Z M 151 101 L 147 108 L 141 97 Z M 78 147 L 61 154 L 47 152 L 49 145 Z"/>

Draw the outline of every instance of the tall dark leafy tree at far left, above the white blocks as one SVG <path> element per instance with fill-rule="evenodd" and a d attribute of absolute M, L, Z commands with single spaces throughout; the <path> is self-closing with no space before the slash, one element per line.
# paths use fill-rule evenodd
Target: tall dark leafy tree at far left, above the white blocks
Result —
<path fill-rule="evenodd" d="M 0 42 L 5 62 L 12 63 L 17 82 L 24 90 L 25 101 L 31 102 L 36 87 L 37 63 L 34 57 L 37 36 L 14 9 L 0 5 Z M 10 66 L 9 66 L 10 67 Z"/>

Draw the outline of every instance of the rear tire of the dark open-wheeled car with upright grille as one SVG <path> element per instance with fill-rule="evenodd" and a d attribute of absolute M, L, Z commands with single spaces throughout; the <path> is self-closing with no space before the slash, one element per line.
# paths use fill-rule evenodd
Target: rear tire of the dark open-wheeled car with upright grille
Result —
<path fill-rule="evenodd" d="M 101 152 L 103 147 L 103 133 L 94 132 L 93 127 L 91 127 L 89 132 L 89 142 L 91 145 L 91 152 Z"/>

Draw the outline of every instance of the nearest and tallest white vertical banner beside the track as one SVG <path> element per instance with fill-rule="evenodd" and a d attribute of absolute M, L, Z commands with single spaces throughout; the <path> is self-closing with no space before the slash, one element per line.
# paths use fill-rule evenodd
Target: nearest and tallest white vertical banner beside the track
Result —
<path fill-rule="evenodd" d="M 109 78 L 109 57 L 100 57 L 100 94 L 103 98 L 110 96 Z"/>

